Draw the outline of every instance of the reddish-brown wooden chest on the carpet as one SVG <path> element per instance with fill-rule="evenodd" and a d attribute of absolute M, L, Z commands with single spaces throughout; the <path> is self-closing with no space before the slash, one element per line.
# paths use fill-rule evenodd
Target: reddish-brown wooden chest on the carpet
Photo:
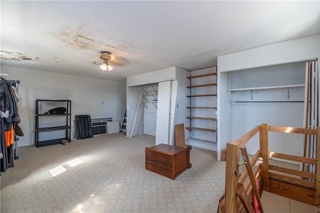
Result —
<path fill-rule="evenodd" d="M 186 148 L 167 144 L 145 147 L 145 169 L 174 179 L 191 168 L 190 150 L 190 145 Z"/>

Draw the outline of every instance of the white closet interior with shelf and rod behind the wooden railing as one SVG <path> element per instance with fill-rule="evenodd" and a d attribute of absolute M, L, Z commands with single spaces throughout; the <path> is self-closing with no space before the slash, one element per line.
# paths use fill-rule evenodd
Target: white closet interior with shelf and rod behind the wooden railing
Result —
<path fill-rule="evenodd" d="M 305 61 L 229 71 L 228 122 L 231 140 L 261 123 L 303 127 Z M 246 144 L 259 149 L 258 138 Z M 269 132 L 270 150 L 300 155 L 301 135 Z"/>

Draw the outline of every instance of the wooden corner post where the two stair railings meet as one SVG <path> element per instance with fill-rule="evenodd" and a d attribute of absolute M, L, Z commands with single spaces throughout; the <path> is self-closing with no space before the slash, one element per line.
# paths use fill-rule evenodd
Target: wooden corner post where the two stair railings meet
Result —
<path fill-rule="evenodd" d="M 262 147 L 262 181 L 263 190 L 269 191 L 269 153 L 268 153 L 268 124 L 262 123 L 261 126 Z"/>

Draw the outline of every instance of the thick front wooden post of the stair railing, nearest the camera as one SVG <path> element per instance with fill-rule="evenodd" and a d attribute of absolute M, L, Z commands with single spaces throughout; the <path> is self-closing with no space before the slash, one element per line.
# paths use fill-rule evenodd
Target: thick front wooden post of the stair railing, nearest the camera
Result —
<path fill-rule="evenodd" d="M 225 162 L 225 212 L 233 213 L 237 211 L 236 188 L 238 184 L 239 144 L 226 143 Z"/>

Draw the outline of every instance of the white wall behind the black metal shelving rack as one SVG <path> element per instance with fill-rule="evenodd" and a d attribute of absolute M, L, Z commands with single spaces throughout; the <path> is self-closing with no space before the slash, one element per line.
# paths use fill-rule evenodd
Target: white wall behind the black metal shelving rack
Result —
<path fill-rule="evenodd" d="M 20 126 L 24 136 L 19 137 L 19 146 L 34 144 L 35 99 L 70 99 L 71 120 L 74 115 L 89 114 L 91 118 L 112 117 L 113 121 L 122 122 L 125 111 L 125 83 L 104 80 L 102 104 L 102 79 L 2 65 L 1 73 L 8 74 L 8 78 L 20 80 Z M 73 127 L 73 123 L 71 124 Z M 55 132 L 43 134 L 46 133 L 50 136 L 49 134 Z M 73 128 L 71 137 L 72 133 Z"/>

